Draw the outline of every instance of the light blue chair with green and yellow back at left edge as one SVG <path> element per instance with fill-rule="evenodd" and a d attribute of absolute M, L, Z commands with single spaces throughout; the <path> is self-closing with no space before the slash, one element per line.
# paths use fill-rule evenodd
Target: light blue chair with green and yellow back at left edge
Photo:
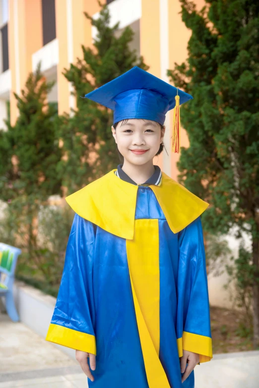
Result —
<path fill-rule="evenodd" d="M 20 253 L 20 249 L 0 242 L 0 297 L 5 297 L 5 309 L 13 322 L 19 321 L 14 304 L 13 282 Z"/>

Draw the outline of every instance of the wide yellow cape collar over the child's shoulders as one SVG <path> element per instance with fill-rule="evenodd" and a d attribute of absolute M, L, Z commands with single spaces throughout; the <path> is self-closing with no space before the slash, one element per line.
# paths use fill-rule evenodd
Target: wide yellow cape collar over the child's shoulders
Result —
<path fill-rule="evenodd" d="M 137 189 L 115 175 L 101 178 L 68 195 L 68 205 L 84 219 L 116 236 L 133 239 Z M 193 222 L 209 204 L 162 171 L 160 186 L 149 186 L 161 206 L 170 229 L 178 233 Z"/>

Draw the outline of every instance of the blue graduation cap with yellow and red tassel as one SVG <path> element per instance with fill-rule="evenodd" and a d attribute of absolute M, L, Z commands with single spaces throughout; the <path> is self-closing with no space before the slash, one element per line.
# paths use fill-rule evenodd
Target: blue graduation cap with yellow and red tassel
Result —
<path fill-rule="evenodd" d="M 163 125 L 174 109 L 172 151 L 179 152 L 180 105 L 193 97 L 138 66 L 85 95 L 114 111 L 114 120 L 145 118 Z"/>

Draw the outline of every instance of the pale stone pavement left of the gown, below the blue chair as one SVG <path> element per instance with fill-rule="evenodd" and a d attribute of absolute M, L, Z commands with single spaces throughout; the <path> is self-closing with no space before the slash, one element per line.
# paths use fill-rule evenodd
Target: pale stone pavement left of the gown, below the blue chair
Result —
<path fill-rule="evenodd" d="M 0 313 L 0 388 L 87 388 L 76 360 Z"/>

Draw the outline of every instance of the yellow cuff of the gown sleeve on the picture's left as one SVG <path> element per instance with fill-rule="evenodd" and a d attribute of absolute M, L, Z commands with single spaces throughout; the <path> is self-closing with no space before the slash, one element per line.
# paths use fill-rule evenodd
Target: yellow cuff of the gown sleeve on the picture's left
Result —
<path fill-rule="evenodd" d="M 96 355 L 95 336 L 92 334 L 50 324 L 45 340 Z"/>

